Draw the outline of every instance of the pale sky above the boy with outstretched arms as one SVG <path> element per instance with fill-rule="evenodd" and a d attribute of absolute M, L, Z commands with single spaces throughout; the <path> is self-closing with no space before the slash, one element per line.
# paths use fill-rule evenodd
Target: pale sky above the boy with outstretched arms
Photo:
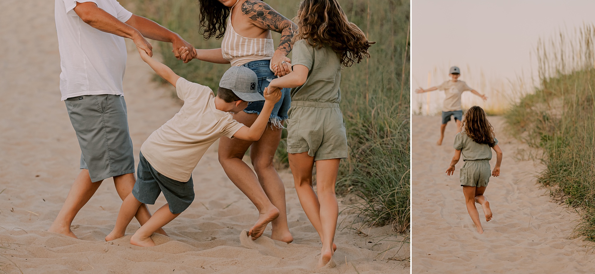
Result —
<path fill-rule="evenodd" d="M 411 11 L 412 91 L 428 88 L 428 72 L 433 73 L 431 85 L 438 85 L 450 66 L 459 66 L 461 80 L 492 98 L 496 91 L 490 82 L 505 83 L 522 71 L 530 74 L 530 52 L 539 38 L 595 23 L 595 1 L 587 0 L 413 0 Z M 440 111 L 443 93 L 431 92 L 430 98 L 414 94 L 414 113 L 420 106 L 425 113 L 428 101 L 430 113 Z M 480 104 L 468 92 L 463 101 L 464 106 Z"/>

